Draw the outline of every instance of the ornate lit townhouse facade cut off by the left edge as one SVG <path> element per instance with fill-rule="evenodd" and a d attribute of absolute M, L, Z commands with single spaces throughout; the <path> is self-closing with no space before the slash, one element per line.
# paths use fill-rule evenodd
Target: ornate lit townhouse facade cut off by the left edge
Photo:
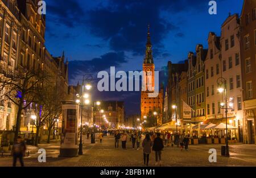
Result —
<path fill-rule="evenodd" d="M 0 1 L 0 77 L 8 78 L 9 71 L 15 72 L 18 69 L 21 32 L 16 1 Z M 16 106 L 0 98 L 0 130 L 12 130 L 15 118 Z"/>

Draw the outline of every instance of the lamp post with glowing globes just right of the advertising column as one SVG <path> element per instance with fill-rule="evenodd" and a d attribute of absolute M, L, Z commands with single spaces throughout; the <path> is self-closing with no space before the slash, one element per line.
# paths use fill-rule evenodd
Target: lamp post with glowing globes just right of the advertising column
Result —
<path fill-rule="evenodd" d="M 89 101 L 88 100 L 89 94 L 84 93 L 84 87 L 86 88 L 86 90 L 90 90 L 92 88 L 92 85 L 90 85 L 90 84 L 84 85 L 85 79 L 86 79 L 86 81 L 90 82 L 90 80 L 92 79 L 92 76 L 90 74 L 84 74 L 82 76 L 82 96 L 81 96 L 82 101 L 80 103 L 80 100 L 76 100 L 77 103 L 81 104 L 81 126 L 80 126 L 81 128 L 80 128 L 79 155 L 82 155 L 82 109 L 83 109 L 83 105 L 84 105 L 84 98 L 86 99 L 85 103 L 86 103 L 86 101 L 87 102 Z"/>

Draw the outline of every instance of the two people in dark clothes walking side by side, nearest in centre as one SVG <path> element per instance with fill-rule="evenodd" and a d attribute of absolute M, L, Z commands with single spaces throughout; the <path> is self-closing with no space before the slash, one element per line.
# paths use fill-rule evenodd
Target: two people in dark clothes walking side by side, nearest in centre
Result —
<path fill-rule="evenodd" d="M 164 148 L 164 144 L 163 144 L 163 139 L 160 138 L 160 133 L 156 134 L 156 138 L 154 139 L 154 142 L 152 142 L 150 135 L 146 134 L 142 142 L 142 147 L 143 147 L 143 160 L 145 165 L 148 166 L 151 150 L 155 151 L 155 162 L 156 162 L 155 165 L 158 165 L 158 164 L 161 165 L 160 161 L 161 161 L 161 154 Z"/>

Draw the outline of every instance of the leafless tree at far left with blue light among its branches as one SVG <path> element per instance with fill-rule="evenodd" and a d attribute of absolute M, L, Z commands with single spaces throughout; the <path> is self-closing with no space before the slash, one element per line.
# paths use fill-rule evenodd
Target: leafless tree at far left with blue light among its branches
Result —
<path fill-rule="evenodd" d="M 27 69 L 20 69 L 19 72 L 9 71 L 5 77 L 0 78 L 0 89 L 4 91 L 1 97 L 12 101 L 18 107 L 14 140 L 19 135 L 22 111 L 31 103 L 38 102 L 44 82 L 47 82 L 47 75 L 40 69 L 37 71 L 28 71 Z"/>

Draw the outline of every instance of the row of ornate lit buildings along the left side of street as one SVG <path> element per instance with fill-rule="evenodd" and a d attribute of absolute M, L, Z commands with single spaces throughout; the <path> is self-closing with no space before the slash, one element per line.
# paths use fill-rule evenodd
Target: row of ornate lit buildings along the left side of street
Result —
<path fill-rule="evenodd" d="M 38 13 L 38 0 L 0 1 L 0 77 L 18 73 L 20 69 L 44 69 L 52 76 L 63 96 L 68 95 L 68 62 L 64 53 L 53 57 L 45 47 L 46 17 Z M 1 89 L 3 96 L 5 89 Z M 0 98 L 0 132 L 14 130 L 18 107 Z M 20 131 L 32 130 L 29 108 L 23 110 Z M 31 126 L 31 127 L 30 127 Z M 61 126 L 61 125 L 60 125 Z M 47 132 L 46 132 L 47 133 Z"/>

